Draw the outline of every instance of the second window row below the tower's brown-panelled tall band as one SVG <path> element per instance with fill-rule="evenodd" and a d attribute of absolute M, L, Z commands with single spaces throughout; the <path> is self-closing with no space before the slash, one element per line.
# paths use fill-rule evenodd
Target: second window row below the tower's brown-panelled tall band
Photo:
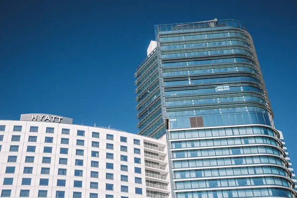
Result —
<path fill-rule="evenodd" d="M 196 147 L 215 147 L 215 146 L 248 145 L 248 144 L 268 144 L 268 145 L 280 147 L 280 144 L 275 139 L 272 139 L 272 138 L 247 137 L 247 138 L 222 138 L 222 139 L 172 142 L 171 148 L 196 148 Z"/>

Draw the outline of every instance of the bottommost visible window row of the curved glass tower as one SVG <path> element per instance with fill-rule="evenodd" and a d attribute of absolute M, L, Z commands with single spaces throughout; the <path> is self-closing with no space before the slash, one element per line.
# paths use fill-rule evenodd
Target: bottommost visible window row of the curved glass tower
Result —
<path fill-rule="evenodd" d="M 295 198 L 295 195 L 286 189 L 262 188 L 262 189 L 234 189 L 218 191 L 201 191 L 177 193 L 177 198 L 263 198 L 281 197 Z"/>

